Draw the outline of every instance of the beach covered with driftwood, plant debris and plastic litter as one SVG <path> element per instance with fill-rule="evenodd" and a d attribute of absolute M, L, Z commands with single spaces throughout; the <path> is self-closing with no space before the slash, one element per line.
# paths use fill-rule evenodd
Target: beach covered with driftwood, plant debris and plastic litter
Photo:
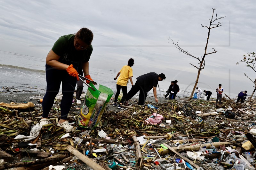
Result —
<path fill-rule="evenodd" d="M 95 129 L 78 126 L 81 108 L 74 103 L 70 133 L 57 126 L 60 100 L 43 127 L 40 102 L 25 108 L 0 103 L 0 170 L 255 169 L 254 99 L 236 104 L 223 98 L 222 106 L 186 99 L 135 103 L 105 110 Z"/>

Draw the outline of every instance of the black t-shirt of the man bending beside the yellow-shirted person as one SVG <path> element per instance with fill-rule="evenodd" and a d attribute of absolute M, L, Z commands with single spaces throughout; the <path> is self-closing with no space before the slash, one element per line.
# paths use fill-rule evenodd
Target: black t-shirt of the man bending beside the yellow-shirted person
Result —
<path fill-rule="evenodd" d="M 137 78 L 137 82 L 143 87 L 145 92 L 148 92 L 158 85 L 158 74 L 155 72 L 143 74 Z"/>

